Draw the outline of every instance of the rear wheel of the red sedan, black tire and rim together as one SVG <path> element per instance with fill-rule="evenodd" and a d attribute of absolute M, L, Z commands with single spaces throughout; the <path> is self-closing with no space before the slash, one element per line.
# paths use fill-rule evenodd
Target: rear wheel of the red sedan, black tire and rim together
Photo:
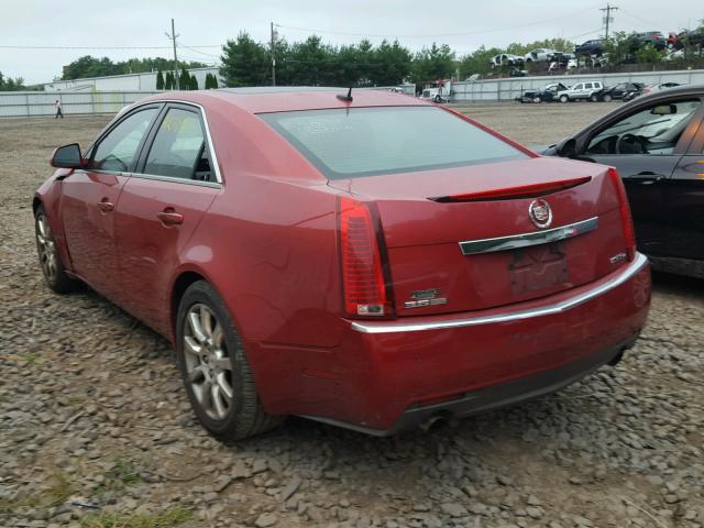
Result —
<path fill-rule="evenodd" d="M 194 413 L 210 435 L 229 443 L 283 421 L 262 407 L 242 339 L 212 286 L 198 280 L 186 289 L 176 324 L 178 369 Z"/>

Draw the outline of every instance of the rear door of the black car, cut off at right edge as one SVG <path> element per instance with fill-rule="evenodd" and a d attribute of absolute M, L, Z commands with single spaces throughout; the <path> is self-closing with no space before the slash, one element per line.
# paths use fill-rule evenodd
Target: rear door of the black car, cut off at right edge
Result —
<path fill-rule="evenodd" d="M 674 172 L 663 185 L 663 253 L 674 260 L 700 261 L 696 265 L 704 277 L 704 105 L 691 130 L 694 138 Z M 674 266 L 676 262 L 672 262 Z M 680 263 L 681 265 L 689 265 Z M 676 267 L 675 270 L 676 271 Z"/>

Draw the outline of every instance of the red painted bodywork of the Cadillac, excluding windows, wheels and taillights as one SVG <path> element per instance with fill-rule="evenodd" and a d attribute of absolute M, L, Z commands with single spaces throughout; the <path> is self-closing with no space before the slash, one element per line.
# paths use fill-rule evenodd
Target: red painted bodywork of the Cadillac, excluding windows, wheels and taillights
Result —
<path fill-rule="evenodd" d="M 184 286 L 197 278 L 213 285 L 273 415 L 392 430 L 409 408 L 558 369 L 637 336 L 649 307 L 649 268 L 640 260 L 610 260 L 626 253 L 627 242 L 607 167 L 541 158 L 516 145 L 526 160 L 328 180 L 256 113 L 431 106 L 383 91 L 359 91 L 353 102 L 336 94 L 213 90 L 147 98 L 136 106 L 174 100 L 201 107 L 221 185 L 58 169 L 37 190 L 35 207 L 44 205 L 73 274 L 170 340 Z M 559 188 L 564 180 L 580 185 Z M 558 190 L 543 198 L 553 227 L 598 217 L 598 229 L 565 240 L 564 254 L 556 258 L 544 245 L 518 256 L 466 256 L 458 248 L 461 241 L 536 232 L 530 196 L 430 199 L 551 183 Z M 359 200 L 378 215 L 393 299 L 383 318 L 343 311 L 341 199 Z M 178 215 L 183 222 L 170 223 Z M 556 265 L 564 266 L 558 279 L 539 277 Z M 532 315 L 616 284 L 626 273 L 618 286 L 587 301 Z M 447 302 L 405 307 L 428 288 Z M 530 317 L 462 323 L 526 310 Z M 397 331 L 400 323 L 410 329 Z M 430 328 L 419 330 L 424 324 Z"/>

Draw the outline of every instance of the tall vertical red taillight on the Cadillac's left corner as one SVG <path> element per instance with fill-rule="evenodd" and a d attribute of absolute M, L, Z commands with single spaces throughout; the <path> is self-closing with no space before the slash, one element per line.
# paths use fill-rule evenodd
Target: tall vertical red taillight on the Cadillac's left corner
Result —
<path fill-rule="evenodd" d="M 339 233 L 344 312 L 350 317 L 393 316 L 383 239 L 372 205 L 340 197 Z M 385 257 L 385 251 L 384 251 Z"/>

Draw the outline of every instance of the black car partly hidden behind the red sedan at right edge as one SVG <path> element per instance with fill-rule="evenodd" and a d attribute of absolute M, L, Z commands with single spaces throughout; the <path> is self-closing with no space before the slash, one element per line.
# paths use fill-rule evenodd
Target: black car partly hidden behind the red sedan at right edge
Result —
<path fill-rule="evenodd" d="M 642 96 L 543 154 L 616 167 L 653 267 L 704 278 L 702 101 L 702 85 Z"/>

